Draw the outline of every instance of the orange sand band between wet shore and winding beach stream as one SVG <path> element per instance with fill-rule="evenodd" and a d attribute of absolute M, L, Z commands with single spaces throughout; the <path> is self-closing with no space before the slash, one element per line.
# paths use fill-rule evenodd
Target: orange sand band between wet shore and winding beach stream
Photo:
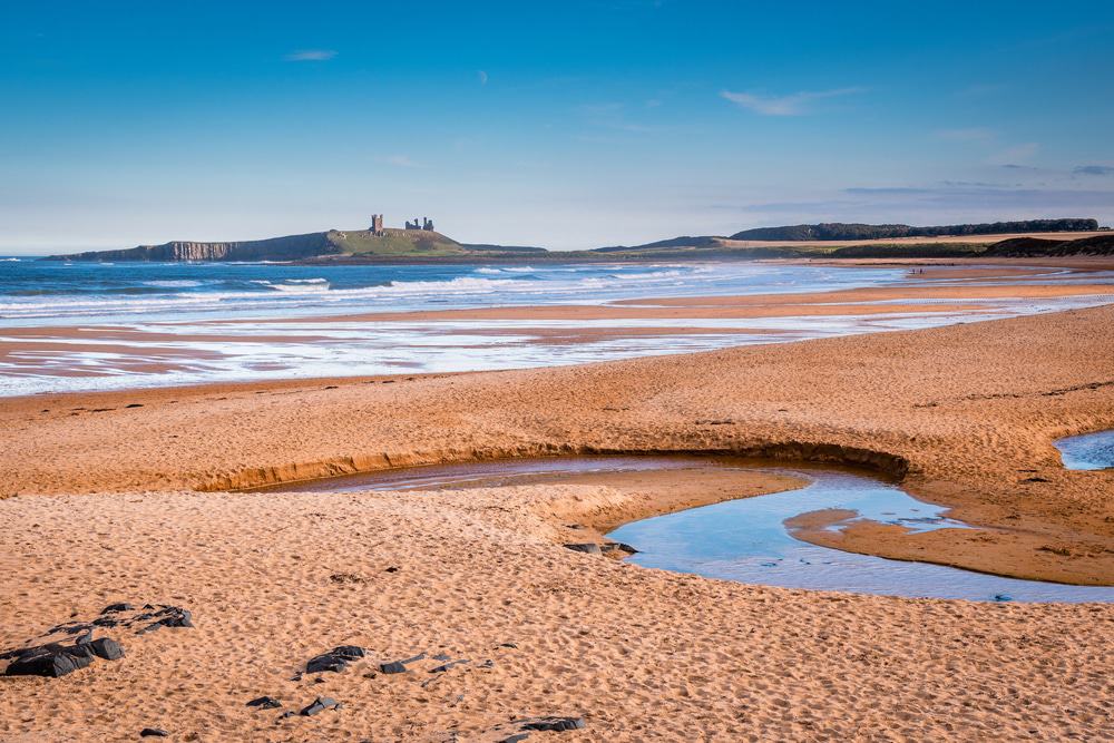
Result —
<path fill-rule="evenodd" d="M 1095 518 L 1110 508 L 1108 476 L 1063 470 L 1051 441 L 1114 424 L 1102 362 L 1114 358 L 1112 322 L 1114 307 L 1098 307 L 553 369 L 85 393 L 80 405 L 12 398 L 0 492 L 233 489 L 574 452 L 773 453 L 883 470 L 892 459 L 908 462 L 917 497 L 988 529 L 898 538 L 891 556 L 927 544 L 951 565 L 1110 585 L 1114 553 L 1095 549 L 1114 536 L 1114 518 Z M 1022 373 L 1034 353 L 1042 368 Z M 723 397 L 737 374 L 746 398 Z M 852 537 L 843 548 L 869 551 Z"/>

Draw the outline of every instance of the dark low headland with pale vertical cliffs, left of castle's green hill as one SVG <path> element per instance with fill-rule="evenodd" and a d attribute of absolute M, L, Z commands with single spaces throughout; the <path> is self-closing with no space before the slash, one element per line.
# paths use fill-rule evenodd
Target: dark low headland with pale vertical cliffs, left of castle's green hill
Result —
<path fill-rule="evenodd" d="M 340 252 L 332 233 L 313 232 L 237 243 L 175 241 L 140 245 L 124 251 L 90 251 L 76 255 L 51 255 L 56 261 L 296 261 Z"/>

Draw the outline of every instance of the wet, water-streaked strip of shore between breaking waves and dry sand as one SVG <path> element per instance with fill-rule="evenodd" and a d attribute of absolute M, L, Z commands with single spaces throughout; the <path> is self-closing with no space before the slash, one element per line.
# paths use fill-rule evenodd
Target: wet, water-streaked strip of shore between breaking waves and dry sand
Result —
<path fill-rule="evenodd" d="M 913 270 L 925 273 L 895 284 L 797 293 L 27 325 L 0 333 L 0 365 L 4 398 L 58 388 L 92 392 L 325 379 L 349 370 L 458 373 L 927 327 L 1114 302 L 1108 276 L 1092 278 L 1076 268 Z"/>

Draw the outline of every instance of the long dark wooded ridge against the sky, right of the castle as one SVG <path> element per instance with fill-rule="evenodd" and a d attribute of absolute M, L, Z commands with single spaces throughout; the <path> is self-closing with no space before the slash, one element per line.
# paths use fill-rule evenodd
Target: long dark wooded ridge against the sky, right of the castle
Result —
<path fill-rule="evenodd" d="M 758 227 L 736 232 L 731 239 L 825 241 L 825 239 L 893 239 L 895 237 L 944 237 L 964 235 L 1008 235 L 1032 232 L 1094 232 L 1095 219 L 1026 219 L 984 224 L 910 227 L 906 224 L 856 224 L 827 222 L 784 227 Z"/>

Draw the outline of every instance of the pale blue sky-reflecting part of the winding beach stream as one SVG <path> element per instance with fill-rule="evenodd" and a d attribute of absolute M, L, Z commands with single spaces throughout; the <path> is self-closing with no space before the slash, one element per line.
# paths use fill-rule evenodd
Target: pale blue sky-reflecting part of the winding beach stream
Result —
<path fill-rule="evenodd" d="M 1112 602 L 1114 588 L 1017 580 L 927 563 L 843 553 L 794 539 L 783 521 L 840 508 L 925 530 L 965 528 L 895 486 L 844 472 L 779 470 L 812 478 L 802 490 L 732 500 L 619 527 L 612 539 L 642 550 L 645 567 L 788 588 L 890 596 L 1019 602 Z"/>

